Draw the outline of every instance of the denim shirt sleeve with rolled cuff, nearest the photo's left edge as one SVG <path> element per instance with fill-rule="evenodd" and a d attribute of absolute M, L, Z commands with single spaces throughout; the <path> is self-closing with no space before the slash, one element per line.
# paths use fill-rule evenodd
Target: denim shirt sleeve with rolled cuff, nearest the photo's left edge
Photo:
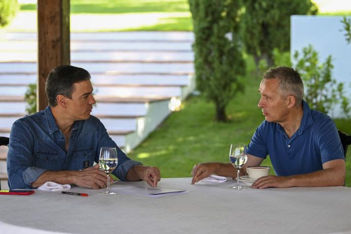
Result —
<path fill-rule="evenodd" d="M 14 122 L 10 133 L 7 172 L 10 189 L 33 189 L 32 183 L 46 170 L 33 166 L 34 137 L 21 120 Z"/>

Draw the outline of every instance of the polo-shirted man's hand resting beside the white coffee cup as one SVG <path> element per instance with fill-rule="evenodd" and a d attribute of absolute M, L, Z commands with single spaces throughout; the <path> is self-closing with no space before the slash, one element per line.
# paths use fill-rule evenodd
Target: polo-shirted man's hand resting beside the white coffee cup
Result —
<path fill-rule="evenodd" d="M 290 188 L 291 187 L 290 181 L 291 180 L 289 177 L 267 175 L 267 176 L 258 178 L 255 181 L 255 183 L 251 185 L 251 188 L 253 189 L 265 189 L 269 187 Z"/>

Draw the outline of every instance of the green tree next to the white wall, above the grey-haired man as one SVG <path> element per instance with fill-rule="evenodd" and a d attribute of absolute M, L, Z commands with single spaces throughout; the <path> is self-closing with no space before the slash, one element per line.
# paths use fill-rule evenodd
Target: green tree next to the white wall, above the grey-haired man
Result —
<path fill-rule="evenodd" d="M 244 1 L 243 39 L 246 50 L 258 67 L 265 59 L 273 65 L 273 49 L 287 51 L 290 46 L 290 16 L 316 14 L 310 0 L 246 0 Z"/>

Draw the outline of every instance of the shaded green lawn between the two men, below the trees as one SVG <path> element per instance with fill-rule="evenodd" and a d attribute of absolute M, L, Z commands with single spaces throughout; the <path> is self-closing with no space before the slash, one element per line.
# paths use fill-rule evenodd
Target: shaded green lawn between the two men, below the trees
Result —
<path fill-rule="evenodd" d="M 252 61 L 247 60 L 252 68 Z M 201 96 L 190 96 L 180 112 L 172 113 L 159 128 L 129 157 L 144 165 L 157 166 L 162 177 L 190 177 L 194 164 L 204 162 L 228 162 L 229 146 L 246 143 L 256 127 L 264 120 L 257 103 L 260 79 L 249 71 L 244 93 L 232 99 L 227 109 L 230 121 L 214 120 L 213 103 Z M 351 120 L 336 120 L 337 127 L 351 134 Z M 346 157 L 346 170 L 351 171 L 351 149 Z M 263 165 L 272 166 L 269 158 Z M 274 171 L 270 171 L 274 174 Z M 346 185 L 351 186 L 351 174 L 347 173 Z"/>

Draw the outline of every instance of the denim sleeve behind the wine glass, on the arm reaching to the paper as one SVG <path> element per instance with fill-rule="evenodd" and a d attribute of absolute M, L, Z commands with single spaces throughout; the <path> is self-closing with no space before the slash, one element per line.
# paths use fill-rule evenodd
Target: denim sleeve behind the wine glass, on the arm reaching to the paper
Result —
<path fill-rule="evenodd" d="M 118 165 L 116 169 L 112 172 L 113 175 L 117 176 L 119 179 L 123 181 L 127 181 L 126 175 L 128 171 L 135 165 L 142 165 L 142 163 L 133 161 L 127 157 L 127 155 L 117 146 L 117 144 L 110 138 L 108 135 L 105 126 L 99 120 L 99 135 L 101 136 L 99 139 L 98 152 L 101 147 L 116 147 L 117 149 L 117 157 L 118 157 Z M 99 155 L 96 155 L 96 162 L 99 161 Z"/>

